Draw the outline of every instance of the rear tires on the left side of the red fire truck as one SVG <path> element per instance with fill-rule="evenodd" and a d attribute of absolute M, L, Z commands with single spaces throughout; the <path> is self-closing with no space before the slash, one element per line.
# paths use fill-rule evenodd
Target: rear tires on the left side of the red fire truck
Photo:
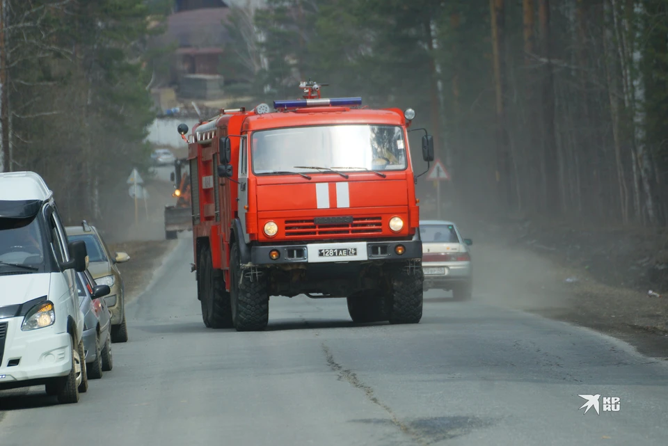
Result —
<path fill-rule="evenodd" d="M 211 251 L 202 250 L 204 296 L 202 296 L 202 319 L 209 328 L 232 328 L 230 294 L 225 291 L 223 271 L 214 270 Z"/>

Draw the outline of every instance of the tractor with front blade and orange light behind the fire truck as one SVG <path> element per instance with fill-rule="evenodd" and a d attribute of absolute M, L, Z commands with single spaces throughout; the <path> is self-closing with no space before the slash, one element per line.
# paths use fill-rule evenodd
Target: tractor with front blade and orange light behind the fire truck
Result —
<path fill-rule="evenodd" d="M 186 158 L 174 161 L 174 172 L 170 173 L 170 181 L 174 184 L 172 196 L 176 198 L 176 205 L 165 206 L 165 238 L 173 240 L 184 230 L 193 230 L 192 207 L 190 193 L 190 174 L 182 173 L 182 167 L 187 163 Z"/>

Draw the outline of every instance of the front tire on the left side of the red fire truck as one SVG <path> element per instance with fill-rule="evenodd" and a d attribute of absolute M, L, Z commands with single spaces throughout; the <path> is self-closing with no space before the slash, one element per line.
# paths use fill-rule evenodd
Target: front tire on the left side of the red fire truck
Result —
<path fill-rule="evenodd" d="M 250 280 L 241 276 L 239 248 L 232 245 L 230 301 L 237 331 L 262 331 L 269 322 L 269 290 L 264 276 Z"/>

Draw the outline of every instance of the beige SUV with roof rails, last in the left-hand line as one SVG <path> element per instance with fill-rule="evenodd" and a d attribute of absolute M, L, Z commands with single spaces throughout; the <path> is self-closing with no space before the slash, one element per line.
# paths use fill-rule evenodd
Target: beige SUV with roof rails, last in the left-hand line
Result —
<path fill-rule="evenodd" d="M 81 226 L 65 228 L 70 241 L 84 241 L 88 250 L 88 271 L 97 285 L 109 285 L 111 292 L 104 297 L 111 311 L 111 342 L 127 342 L 125 321 L 125 285 L 116 264 L 130 260 L 127 253 L 113 253 L 104 243 L 100 232 L 86 221 Z"/>

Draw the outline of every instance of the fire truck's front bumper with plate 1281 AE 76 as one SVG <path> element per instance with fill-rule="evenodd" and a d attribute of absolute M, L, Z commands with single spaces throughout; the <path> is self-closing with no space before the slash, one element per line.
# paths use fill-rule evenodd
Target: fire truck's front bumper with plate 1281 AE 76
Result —
<path fill-rule="evenodd" d="M 397 246 L 404 252 L 397 254 Z M 269 253 L 278 250 L 280 256 L 271 260 Z M 347 255 L 340 255 L 345 253 Z M 338 255 L 337 255 L 338 254 Z M 254 265 L 336 263 L 336 262 L 388 262 L 422 258 L 422 241 L 351 241 L 337 243 L 308 243 L 276 246 L 252 246 L 250 263 Z"/>

